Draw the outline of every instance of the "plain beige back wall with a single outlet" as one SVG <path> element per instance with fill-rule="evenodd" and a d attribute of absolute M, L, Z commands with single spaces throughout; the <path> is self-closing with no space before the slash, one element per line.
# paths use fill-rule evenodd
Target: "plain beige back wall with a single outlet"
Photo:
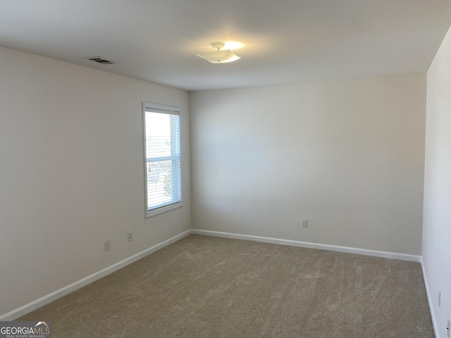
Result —
<path fill-rule="evenodd" d="M 190 111 L 194 229 L 421 253 L 425 75 L 191 92 Z"/>

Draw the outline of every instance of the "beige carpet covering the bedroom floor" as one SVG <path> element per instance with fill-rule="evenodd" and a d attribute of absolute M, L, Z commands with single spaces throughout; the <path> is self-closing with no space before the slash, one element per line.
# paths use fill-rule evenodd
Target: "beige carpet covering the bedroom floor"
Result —
<path fill-rule="evenodd" d="M 52 337 L 434 337 L 419 263 L 190 235 L 18 320 Z"/>

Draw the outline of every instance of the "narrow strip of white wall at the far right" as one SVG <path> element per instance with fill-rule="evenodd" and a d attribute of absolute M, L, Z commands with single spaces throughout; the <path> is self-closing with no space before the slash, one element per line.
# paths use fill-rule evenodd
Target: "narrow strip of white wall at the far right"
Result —
<path fill-rule="evenodd" d="M 428 70 L 427 93 L 422 256 L 436 333 L 446 337 L 451 318 L 451 30 Z"/>

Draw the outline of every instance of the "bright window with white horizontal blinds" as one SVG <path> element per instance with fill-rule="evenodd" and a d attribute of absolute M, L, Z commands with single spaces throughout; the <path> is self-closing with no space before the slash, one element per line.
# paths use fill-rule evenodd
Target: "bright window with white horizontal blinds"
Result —
<path fill-rule="evenodd" d="M 182 206 L 180 108 L 142 104 L 146 217 Z"/>

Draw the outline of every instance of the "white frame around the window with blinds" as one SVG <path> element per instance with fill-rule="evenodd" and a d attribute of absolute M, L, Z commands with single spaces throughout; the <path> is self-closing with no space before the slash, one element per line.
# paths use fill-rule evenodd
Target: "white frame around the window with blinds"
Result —
<path fill-rule="evenodd" d="M 149 210 L 149 201 L 147 194 L 147 132 L 146 132 L 146 112 L 152 113 L 167 113 L 173 115 L 178 115 L 178 123 L 179 123 L 179 149 L 180 149 L 180 201 L 176 201 L 172 204 L 168 204 L 165 206 L 159 206 L 156 208 L 152 208 Z M 182 184 L 182 174 L 183 174 L 183 150 L 182 150 L 182 114 L 181 109 L 175 106 L 167 106 L 162 104 L 152 104 L 148 102 L 142 103 L 142 118 L 143 118 L 143 127 L 144 127 L 144 201 L 145 201 L 145 216 L 146 218 L 152 217 L 154 215 L 159 215 L 160 213 L 166 213 L 166 211 L 171 211 L 175 208 L 180 208 L 183 206 L 183 184 Z"/>

